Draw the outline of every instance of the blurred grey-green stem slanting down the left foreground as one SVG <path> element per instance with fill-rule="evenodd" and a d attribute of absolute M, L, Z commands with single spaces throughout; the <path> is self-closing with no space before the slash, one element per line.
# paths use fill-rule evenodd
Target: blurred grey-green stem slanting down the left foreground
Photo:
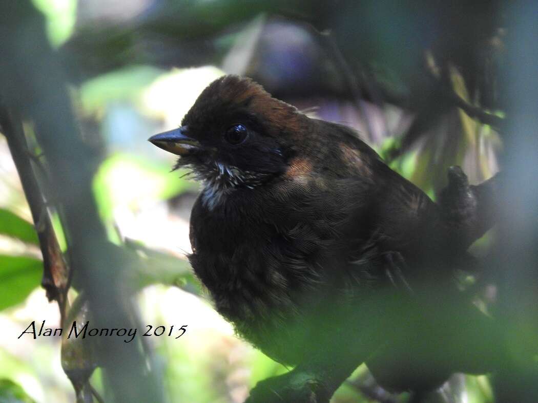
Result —
<path fill-rule="evenodd" d="M 97 212 L 90 150 L 75 122 L 66 75 L 46 35 L 44 16 L 28 0 L 0 3 L 0 92 L 8 107 L 33 121 L 59 203 L 73 283 L 86 294 L 98 328 L 134 328 L 121 287 L 123 257 L 111 248 Z M 31 193 L 30 193 L 31 194 Z M 163 400 L 160 378 L 140 344 L 102 339 L 95 352 L 114 401 Z"/>

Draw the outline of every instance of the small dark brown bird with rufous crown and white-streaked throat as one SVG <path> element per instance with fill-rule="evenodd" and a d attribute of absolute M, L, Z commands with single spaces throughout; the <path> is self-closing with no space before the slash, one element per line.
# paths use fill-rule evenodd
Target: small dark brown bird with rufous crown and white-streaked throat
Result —
<path fill-rule="evenodd" d="M 438 290 L 452 287 L 457 242 L 447 247 L 454 233 L 441 208 L 349 127 L 309 118 L 247 78 L 224 76 L 181 127 L 150 141 L 178 154 L 175 168 L 203 183 L 189 260 L 217 311 L 276 361 L 315 372 L 293 391 L 295 401 L 327 400 L 360 363 L 390 361 L 386 346 L 407 348 L 410 333 L 394 320 L 412 322 L 405 319 L 412 308 L 391 296 L 413 301 L 432 281 Z M 402 360 L 400 369 L 409 364 Z M 452 368 L 426 371 L 374 375 L 392 388 L 428 388 Z M 294 401 L 279 388 L 300 379 L 270 382 L 255 400 Z"/>

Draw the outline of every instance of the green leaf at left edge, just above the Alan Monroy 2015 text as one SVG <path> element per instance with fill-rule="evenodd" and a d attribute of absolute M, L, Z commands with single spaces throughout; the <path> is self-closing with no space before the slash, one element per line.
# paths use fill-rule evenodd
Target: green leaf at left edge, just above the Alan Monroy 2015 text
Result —
<path fill-rule="evenodd" d="M 0 255 L 0 311 L 22 303 L 40 285 L 42 272 L 40 260 Z"/>

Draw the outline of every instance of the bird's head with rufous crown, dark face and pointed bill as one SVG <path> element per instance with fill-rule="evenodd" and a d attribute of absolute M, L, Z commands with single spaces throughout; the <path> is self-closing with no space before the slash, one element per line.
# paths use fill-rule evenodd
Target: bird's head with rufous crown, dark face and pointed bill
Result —
<path fill-rule="evenodd" d="M 249 78 L 229 75 L 201 93 L 181 127 L 149 141 L 179 155 L 175 168 L 214 192 L 252 189 L 286 171 L 304 119 Z"/>

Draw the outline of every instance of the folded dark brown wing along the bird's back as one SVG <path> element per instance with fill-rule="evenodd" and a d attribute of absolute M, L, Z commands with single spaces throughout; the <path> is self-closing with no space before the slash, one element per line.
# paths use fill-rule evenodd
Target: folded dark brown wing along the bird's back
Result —
<path fill-rule="evenodd" d="M 442 249 L 443 229 L 437 205 L 413 183 L 390 169 L 379 155 L 358 139 L 352 129 L 338 126 L 342 133 L 341 171 L 344 182 L 362 200 L 352 213 L 357 242 L 352 252 L 357 261 L 376 250 L 382 270 L 393 283 L 406 285 L 409 266 L 435 256 Z M 355 186 L 355 184 L 358 184 Z M 364 233 L 365 225 L 367 234 Z M 431 257 L 429 256 L 429 257 Z"/>

